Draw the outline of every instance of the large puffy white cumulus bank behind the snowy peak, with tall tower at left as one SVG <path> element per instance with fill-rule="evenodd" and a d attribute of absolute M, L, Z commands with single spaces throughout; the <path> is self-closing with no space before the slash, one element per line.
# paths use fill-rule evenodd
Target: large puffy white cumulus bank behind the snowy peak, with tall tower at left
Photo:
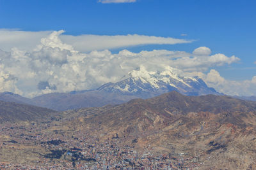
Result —
<path fill-rule="evenodd" d="M 168 67 L 175 67 L 200 73 L 239 60 L 220 53 L 210 55 L 211 50 L 206 47 L 194 53 L 168 50 L 139 53 L 93 50 L 83 53 L 61 41 L 62 32 L 47 34 L 31 51 L 19 48 L 12 48 L 10 52 L 0 50 L 0 90 L 33 97 L 49 92 L 96 89 L 104 83 L 120 81 L 139 66 L 144 66 L 147 71 L 164 71 Z M 218 73 L 210 71 L 206 80 L 214 84 L 216 82 L 212 77 L 218 76 Z M 221 78 L 218 80 L 221 82 Z"/>

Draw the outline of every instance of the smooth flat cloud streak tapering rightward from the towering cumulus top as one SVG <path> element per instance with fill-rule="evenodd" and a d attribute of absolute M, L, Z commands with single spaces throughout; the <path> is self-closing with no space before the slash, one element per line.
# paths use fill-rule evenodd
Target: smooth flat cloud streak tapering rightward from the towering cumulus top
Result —
<path fill-rule="evenodd" d="M 74 49 L 79 50 L 80 52 L 89 52 L 92 50 L 106 50 L 136 45 L 174 45 L 192 42 L 185 39 L 143 36 L 138 34 L 128 34 L 125 36 L 64 35 L 60 36 L 60 39 L 63 42 L 70 43 L 72 46 L 74 46 Z"/>

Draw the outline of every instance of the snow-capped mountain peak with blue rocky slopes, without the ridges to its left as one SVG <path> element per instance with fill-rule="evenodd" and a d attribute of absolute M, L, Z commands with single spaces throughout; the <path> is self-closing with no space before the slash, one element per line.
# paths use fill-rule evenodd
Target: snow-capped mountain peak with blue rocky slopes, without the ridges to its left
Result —
<path fill-rule="evenodd" d="M 148 98 L 165 92 L 175 90 L 187 96 L 200 96 L 204 94 L 218 94 L 213 88 L 207 87 L 198 77 L 181 76 L 178 69 L 168 67 L 164 71 L 147 71 L 140 66 L 138 70 L 131 71 L 117 83 L 106 83 L 99 87 L 100 91 L 118 92 Z"/>

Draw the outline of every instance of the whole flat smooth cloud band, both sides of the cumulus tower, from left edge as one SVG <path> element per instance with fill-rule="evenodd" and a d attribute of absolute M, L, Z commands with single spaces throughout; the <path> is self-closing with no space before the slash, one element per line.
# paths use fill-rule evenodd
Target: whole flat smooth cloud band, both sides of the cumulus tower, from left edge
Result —
<path fill-rule="evenodd" d="M 144 35 L 116 35 L 116 36 L 99 36 L 99 35 L 80 35 L 70 36 L 62 34 L 64 31 L 13 31 L 0 29 L 0 49 L 10 51 L 14 46 L 20 50 L 31 51 L 41 43 L 51 47 L 68 44 L 68 50 L 78 50 L 79 52 L 90 52 L 92 50 L 106 50 L 113 48 L 124 48 L 136 45 L 174 45 L 179 43 L 191 43 L 192 41 L 177 38 L 164 38 L 157 36 Z M 49 41 L 45 40 L 46 36 L 52 35 Z M 58 36 L 58 39 L 53 39 Z M 43 39 L 42 39 L 43 38 Z M 60 46 L 59 46 L 60 47 Z"/>

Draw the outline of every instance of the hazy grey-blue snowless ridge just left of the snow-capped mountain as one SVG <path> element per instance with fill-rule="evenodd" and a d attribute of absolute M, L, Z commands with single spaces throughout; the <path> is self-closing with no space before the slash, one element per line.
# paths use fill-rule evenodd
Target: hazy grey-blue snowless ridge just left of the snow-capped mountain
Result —
<path fill-rule="evenodd" d="M 100 107 L 106 104 L 121 104 L 135 96 L 119 95 L 115 93 L 90 90 L 86 92 L 51 93 L 34 97 L 33 104 L 52 110 L 64 111 L 76 108 Z"/>

